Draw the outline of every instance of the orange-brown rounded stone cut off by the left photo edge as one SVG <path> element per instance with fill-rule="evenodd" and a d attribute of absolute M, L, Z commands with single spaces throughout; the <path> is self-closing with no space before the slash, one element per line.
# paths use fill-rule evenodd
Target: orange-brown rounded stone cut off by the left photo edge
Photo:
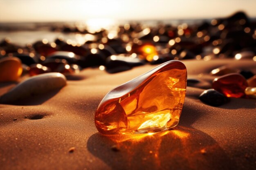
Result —
<path fill-rule="evenodd" d="M 0 59 L 0 82 L 16 81 L 22 73 L 22 65 L 17 57 Z"/>

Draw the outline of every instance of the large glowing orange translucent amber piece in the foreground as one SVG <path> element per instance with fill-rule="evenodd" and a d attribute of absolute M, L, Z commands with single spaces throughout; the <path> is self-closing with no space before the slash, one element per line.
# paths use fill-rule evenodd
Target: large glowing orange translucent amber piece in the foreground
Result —
<path fill-rule="evenodd" d="M 186 66 L 165 62 L 112 89 L 99 104 L 95 125 L 105 135 L 158 132 L 176 126 L 186 94 Z"/>

